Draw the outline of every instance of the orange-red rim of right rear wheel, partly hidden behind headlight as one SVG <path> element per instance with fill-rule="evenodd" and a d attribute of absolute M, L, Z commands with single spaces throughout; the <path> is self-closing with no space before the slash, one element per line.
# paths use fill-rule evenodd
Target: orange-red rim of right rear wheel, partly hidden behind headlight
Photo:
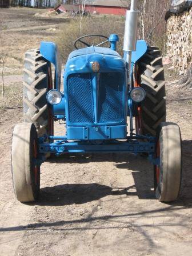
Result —
<path fill-rule="evenodd" d="M 138 67 L 135 67 L 136 72 L 135 72 L 135 82 L 134 82 L 134 87 L 140 87 L 139 83 L 139 69 Z M 135 130 L 136 133 L 139 135 L 142 135 L 142 109 L 141 107 L 137 107 L 137 117 L 135 117 Z"/>

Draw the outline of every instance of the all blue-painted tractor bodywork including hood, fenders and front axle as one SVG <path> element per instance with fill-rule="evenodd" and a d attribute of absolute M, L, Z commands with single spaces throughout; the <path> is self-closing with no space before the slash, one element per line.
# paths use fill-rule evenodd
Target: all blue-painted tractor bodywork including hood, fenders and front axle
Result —
<path fill-rule="evenodd" d="M 126 54 L 122 58 L 115 51 L 117 35 L 111 35 L 109 41 L 111 49 L 91 46 L 69 55 L 63 74 L 65 94 L 61 103 L 53 106 L 54 118 L 66 121 L 66 136 L 51 136 L 51 143 L 45 137 L 39 138 L 39 153 L 146 152 L 151 162 L 158 162 L 155 138 L 134 135 L 133 131 L 127 137 L 127 115 L 133 118 L 134 104 L 127 89 Z M 146 50 L 146 42 L 137 41 L 132 67 Z M 41 54 L 54 64 L 59 89 L 57 47 L 54 43 L 42 42 Z M 93 69 L 95 63 L 99 65 L 97 71 Z"/>

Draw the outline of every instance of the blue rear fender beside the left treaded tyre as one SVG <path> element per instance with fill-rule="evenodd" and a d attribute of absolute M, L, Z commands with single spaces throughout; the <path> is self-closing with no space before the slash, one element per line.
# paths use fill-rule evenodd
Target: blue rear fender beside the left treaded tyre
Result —
<path fill-rule="evenodd" d="M 61 86 L 61 62 L 57 45 L 53 42 L 41 42 L 40 53 L 43 58 L 55 66 L 54 88 L 60 90 Z"/>

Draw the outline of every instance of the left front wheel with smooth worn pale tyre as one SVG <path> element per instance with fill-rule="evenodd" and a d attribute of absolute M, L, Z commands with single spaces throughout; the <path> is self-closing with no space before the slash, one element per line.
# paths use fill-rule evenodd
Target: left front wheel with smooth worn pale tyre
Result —
<path fill-rule="evenodd" d="M 37 130 L 33 123 L 14 127 L 11 144 L 11 171 L 15 196 L 20 202 L 33 202 L 40 188 Z"/>

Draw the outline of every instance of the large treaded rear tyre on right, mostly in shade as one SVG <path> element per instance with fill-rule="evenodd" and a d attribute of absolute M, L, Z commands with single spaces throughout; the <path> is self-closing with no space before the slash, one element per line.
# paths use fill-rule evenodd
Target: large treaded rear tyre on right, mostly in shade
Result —
<path fill-rule="evenodd" d="M 148 46 L 138 67 L 140 86 L 146 91 L 145 101 L 141 105 L 142 133 L 155 136 L 159 124 L 166 121 L 165 76 L 161 50 Z"/>

